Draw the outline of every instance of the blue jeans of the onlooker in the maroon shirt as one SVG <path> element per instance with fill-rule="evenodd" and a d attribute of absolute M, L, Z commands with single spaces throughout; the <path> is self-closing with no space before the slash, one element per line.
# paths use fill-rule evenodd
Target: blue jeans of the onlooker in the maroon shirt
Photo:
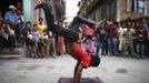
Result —
<path fill-rule="evenodd" d="M 117 48 L 117 39 L 116 38 L 108 38 L 108 48 L 111 54 L 118 54 Z"/>

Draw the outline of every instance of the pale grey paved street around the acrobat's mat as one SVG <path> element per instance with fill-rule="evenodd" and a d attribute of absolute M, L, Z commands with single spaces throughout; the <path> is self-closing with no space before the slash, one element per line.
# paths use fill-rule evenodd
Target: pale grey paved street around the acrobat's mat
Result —
<path fill-rule="evenodd" d="M 57 83 L 61 76 L 72 76 L 74 63 L 69 55 L 0 59 L 0 83 Z M 102 56 L 101 65 L 82 76 L 99 76 L 103 83 L 149 83 L 149 60 Z"/>

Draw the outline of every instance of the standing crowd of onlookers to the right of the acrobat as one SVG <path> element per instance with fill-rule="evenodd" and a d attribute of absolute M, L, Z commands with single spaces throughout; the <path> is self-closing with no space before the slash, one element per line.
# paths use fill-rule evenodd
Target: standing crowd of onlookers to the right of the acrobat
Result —
<path fill-rule="evenodd" d="M 148 58 L 149 19 L 115 23 L 107 21 L 87 40 L 88 52 L 93 50 L 96 55 Z"/>

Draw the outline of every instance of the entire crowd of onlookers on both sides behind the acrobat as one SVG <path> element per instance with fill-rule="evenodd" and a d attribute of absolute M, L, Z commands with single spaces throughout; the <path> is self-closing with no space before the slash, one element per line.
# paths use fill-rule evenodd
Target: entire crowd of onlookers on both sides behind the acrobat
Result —
<path fill-rule="evenodd" d="M 26 44 L 27 55 L 33 58 L 56 56 L 66 53 L 64 39 L 50 32 L 43 19 L 39 23 L 24 22 L 21 10 L 14 6 L 2 18 L 0 12 L 0 50 L 13 52 L 18 42 Z M 68 28 L 68 22 L 58 22 Z M 82 24 L 85 50 L 96 55 L 132 58 L 149 56 L 149 19 L 112 22 L 107 20 L 98 30 Z"/>

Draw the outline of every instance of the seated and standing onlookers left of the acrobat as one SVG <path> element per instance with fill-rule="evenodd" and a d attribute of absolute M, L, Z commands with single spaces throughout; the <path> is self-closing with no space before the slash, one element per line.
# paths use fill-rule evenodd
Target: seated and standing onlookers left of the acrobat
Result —
<path fill-rule="evenodd" d="M 44 58 L 49 54 L 54 56 L 56 52 L 59 55 L 62 53 L 61 40 L 63 38 L 57 35 L 56 42 L 56 34 L 47 29 L 42 18 L 39 18 L 39 23 L 24 22 L 21 10 L 14 6 L 9 6 L 9 11 L 3 18 L 0 11 L 0 50 L 7 48 L 13 52 L 18 43 L 21 43 L 26 45 L 29 56 Z"/>

